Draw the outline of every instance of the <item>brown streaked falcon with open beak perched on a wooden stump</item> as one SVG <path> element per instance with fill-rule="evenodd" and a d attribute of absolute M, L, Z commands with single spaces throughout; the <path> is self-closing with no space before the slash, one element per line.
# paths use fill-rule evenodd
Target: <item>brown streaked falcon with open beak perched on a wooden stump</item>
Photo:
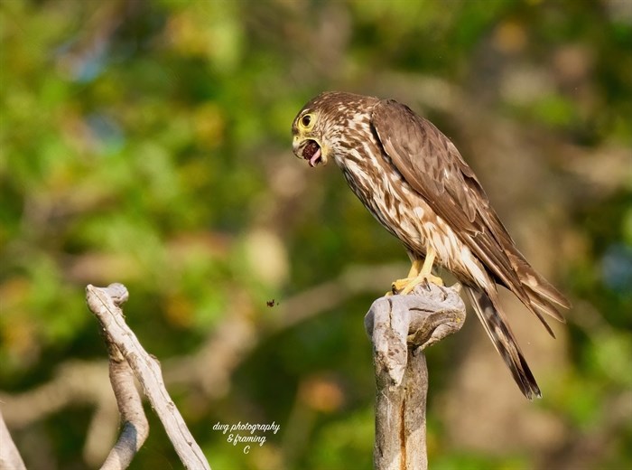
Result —
<path fill-rule="evenodd" d="M 542 392 L 498 296 L 507 287 L 544 324 L 564 323 L 571 303 L 516 248 L 488 196 L 451 139 L 394 99 L 327 91 L 292 124 L 293 154 L 311 167 L 333 160 L 353 193 L 404 244 L 412 266 L 394 294 L 432 282 L 446 268 L 464 287 L 497 353 L 529 400 Z"/>

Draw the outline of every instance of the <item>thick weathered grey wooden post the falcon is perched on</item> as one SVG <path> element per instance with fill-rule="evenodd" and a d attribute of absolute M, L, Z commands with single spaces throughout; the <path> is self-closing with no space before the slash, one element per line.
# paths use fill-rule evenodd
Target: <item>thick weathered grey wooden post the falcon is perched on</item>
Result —
<path fill-rule="evenodd" d="M 460 330 L 460 285 L 378 298 L 365 316 L 376 369 L 376 470 L 425 470 L 428 369 L 423 349 Z"/>

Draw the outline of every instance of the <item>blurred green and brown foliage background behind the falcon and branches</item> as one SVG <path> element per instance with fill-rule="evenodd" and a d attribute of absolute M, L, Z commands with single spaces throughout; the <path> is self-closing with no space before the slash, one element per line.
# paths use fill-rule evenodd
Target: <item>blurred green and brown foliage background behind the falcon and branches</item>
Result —
<path fill-rule="evenodd" d="M 112 282 L 213 469 L 371 467 L 363 316 L 408 266 L 335 165 L 292 155 L 325 89 L 431 118 L 572 299 L 553 340 L 503 297 L 543 400 L 474 315 L 428 352 L 432 468 L 630 468 L 632 3 L 2 0 L 0 19 L 0 410 L 29 468 L 96 468 L 116 438 L 84 291 Z M 146 409 L 132 468 L 180 468 Z M 246 455 L 212 429 L 239 421 L 281 428 Z"/>

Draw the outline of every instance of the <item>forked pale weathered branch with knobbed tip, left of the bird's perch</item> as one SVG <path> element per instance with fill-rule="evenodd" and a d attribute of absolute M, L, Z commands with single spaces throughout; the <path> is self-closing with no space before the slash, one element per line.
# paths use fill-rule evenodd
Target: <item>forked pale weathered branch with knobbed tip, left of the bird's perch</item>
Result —
<path fill-rule="evenodd" d="M 191 436 L 189 428 L 164 387 L 160 364 L 144 351 L 134 332 L 125 324 L 123 312 L 118 306 L 127 299 L 125 286 L 88 286 L 86 292 L 88 307 L 97 316 L 106 337 L 110 353 L 110 381 L 125 422 L 121 436 L 102 468 L 110 470 L 129 465 L 149 432 L 140 397 L 131 390 L 134 388 L 129 373 L 131 370 L 134 371 L 135 377 L 143 386 L 144 394 L 162 421 L 182 464 L 190 469 L 210 470 L 200 446 Z"/>

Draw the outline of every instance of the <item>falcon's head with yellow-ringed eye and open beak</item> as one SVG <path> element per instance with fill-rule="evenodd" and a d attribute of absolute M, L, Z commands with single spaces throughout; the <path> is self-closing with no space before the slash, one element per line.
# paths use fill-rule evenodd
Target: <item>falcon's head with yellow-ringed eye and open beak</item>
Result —
<path fill-rule="evenodd" d="M 339 151 L 340 142 L 364 112 L 368 97 L 328 91 L 311 99 L 302 107 L 292 124 L 293 152 L 310 166 L 327 164 Z M 375 99 L 376 100 L 376 99 Z"/>

